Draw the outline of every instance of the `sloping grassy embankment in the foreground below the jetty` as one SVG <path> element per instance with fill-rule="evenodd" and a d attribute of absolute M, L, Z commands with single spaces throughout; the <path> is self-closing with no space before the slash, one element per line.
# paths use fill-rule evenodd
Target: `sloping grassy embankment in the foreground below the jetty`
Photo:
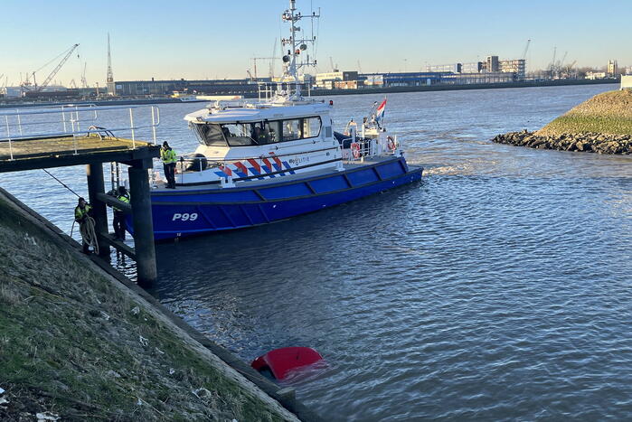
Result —
<path fill-rule="evenodd" d="M 293 417 L 2 198 L 0 419 Z"/>

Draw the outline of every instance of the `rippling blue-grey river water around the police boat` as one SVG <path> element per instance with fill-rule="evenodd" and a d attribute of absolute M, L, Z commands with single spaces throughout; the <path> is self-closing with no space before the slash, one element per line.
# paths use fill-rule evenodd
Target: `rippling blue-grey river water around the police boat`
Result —
<path fill-rule="evenodd" d="M 326 365 L 285 384 L 327 420 L 632 417 L 632 158 L 489 141 L 616 88 L 391 94 L 420 183 L 158 245 L 152 293 L 244 361 L 316 348 Z M 342 128 L 382 96 L 333 99 Z M 192 149 L 196 108 L 161 106 L 160 139 Z M 71 230 L 76 198 L 46 174 L 0 177 Z"/>

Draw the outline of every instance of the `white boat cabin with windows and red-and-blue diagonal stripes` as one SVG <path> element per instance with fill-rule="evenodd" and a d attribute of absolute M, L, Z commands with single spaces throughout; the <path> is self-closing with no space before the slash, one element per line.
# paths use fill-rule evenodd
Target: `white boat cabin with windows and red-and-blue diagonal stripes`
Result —
<path fill-rule="evenodd" d="M 231 184 L 342 169 L 330 108 L 312 101 L 288 105 L 218 101 L 193 112 L 184 119 L 200 145 L 178 163 L 176 183 Z"/>

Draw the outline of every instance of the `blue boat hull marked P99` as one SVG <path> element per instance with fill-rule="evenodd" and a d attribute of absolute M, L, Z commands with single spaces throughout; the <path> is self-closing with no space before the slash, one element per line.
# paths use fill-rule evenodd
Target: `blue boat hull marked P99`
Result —
<path fill-rule="evenodd" d="M 154 237 L 174 239 L 284 220 L 418 181 L 421 173 L 403 158 L 393 158 L 289 182 L 279 178 L 278 183 L 252 187 L 156 191 Z"/>

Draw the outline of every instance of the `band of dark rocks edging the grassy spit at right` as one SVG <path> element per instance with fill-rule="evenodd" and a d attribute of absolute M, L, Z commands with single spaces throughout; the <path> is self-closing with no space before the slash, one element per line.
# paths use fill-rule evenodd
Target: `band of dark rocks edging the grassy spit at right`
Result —
<path fill-rule="evenodd" d="M 509 132 L 492 138 L 497 144 L 529 146 L 538 149 L 558 151 L 579 151 L 597 154 L 632 154 L 632 136 L 605 135 L 599 133 L 537 135 L 526 129 L 522 132 Z"/>

